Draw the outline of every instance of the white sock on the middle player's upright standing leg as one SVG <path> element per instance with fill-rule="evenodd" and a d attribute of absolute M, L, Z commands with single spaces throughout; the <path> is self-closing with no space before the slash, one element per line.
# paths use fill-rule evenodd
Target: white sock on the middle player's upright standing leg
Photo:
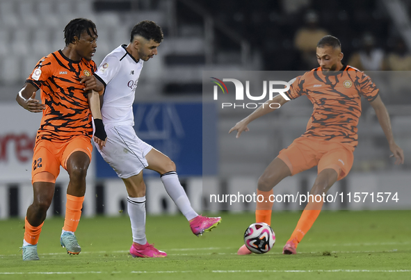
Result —
<path fill-rule="evenodd" d="M 145 196 L 144 197 L 127 197 L 127 212 L 131 222 L 131 232 L 133 233 L 133 242 L 145 245 Z"/>

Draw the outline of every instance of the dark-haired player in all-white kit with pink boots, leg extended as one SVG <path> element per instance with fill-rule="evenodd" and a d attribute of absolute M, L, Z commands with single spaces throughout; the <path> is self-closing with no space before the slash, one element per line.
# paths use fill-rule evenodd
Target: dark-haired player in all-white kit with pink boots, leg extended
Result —
<path fill-rule="evenodd" d="M 127 188 L 127 211 L 131 221 L 134 257 L 167 256 L 147 242 L 145 236 L 145 183 L 143 169 L 159 172 L 168 195 L 190 222 L 196 236 L 211 231 L 220 217 L 203 217 L 195 213 L 184 188 L 179 183 L 175 163 L 140 140 L 134 131 L 133 103 L 143 62 L 157 54 L 163 32 L 154 22 L 143 21 L 131 31 L 128 45 L 122 44 L 108 53 L 95 76 L 105 85 L 102 118 L 107 133 L 105 147 L 97 150 L 124 181 Z"/>

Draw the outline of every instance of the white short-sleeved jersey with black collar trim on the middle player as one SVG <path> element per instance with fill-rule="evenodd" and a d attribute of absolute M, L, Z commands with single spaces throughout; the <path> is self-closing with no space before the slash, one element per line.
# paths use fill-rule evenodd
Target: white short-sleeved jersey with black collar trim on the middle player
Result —
<path fill-rule="evenodd" d="M 143 60 L 134 59 L 123 44 L 108 53 L 95 72 L 106 86 L 102 118 L 104 127 L 134 126 L 133 103 Z"/>

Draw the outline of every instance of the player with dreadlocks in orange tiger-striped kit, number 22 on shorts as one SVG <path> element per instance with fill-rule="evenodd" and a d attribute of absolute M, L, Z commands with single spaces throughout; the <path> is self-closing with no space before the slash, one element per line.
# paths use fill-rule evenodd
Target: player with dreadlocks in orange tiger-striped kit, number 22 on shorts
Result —
<path fill-rule="evenodd" d="M 60 165 L 70 176 L 61 245 L 68 254 L 80 253 L 74 232 L 81 216 L 91 160 L 91 117 L 96 127 L 95 142 L 104 146 L 106 141 L 99 104 L 104 85 L 93 76 L 97 69 L 92 61 L 97 48 L 96 26 L 88 19 L 73 19 L 64 33 L 66 47 L 42 58 L 16 97 L 26 110 L 43 113 L 34 147 L 34 198 L 25 219 L 24 261 L 39 259 L 38 238 L 54 196 Z M 41 102 L 35 99 L 39 89 Z"/>

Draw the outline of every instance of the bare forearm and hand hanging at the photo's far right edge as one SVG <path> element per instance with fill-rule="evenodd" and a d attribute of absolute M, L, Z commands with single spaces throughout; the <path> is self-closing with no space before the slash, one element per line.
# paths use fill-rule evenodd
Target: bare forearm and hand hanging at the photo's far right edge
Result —
<path fill-rule="evenodd" d="M 376 99 L 370 102 L 373 109 L 376 111 L 378 122 L 384 131 L 385 137 L 388 140 L 389 149 L 392 151 L 392 156 L 396 158 L 395 164 L 404 163 L 404 152 L 403 149 L 396 145 L 394 141 L 394 136 L 392 135 L 391 122 L 389 121 L 389 115 L 387 108 L 385 108 L 384 103 L 382 102 L 380 95 Z"/>

